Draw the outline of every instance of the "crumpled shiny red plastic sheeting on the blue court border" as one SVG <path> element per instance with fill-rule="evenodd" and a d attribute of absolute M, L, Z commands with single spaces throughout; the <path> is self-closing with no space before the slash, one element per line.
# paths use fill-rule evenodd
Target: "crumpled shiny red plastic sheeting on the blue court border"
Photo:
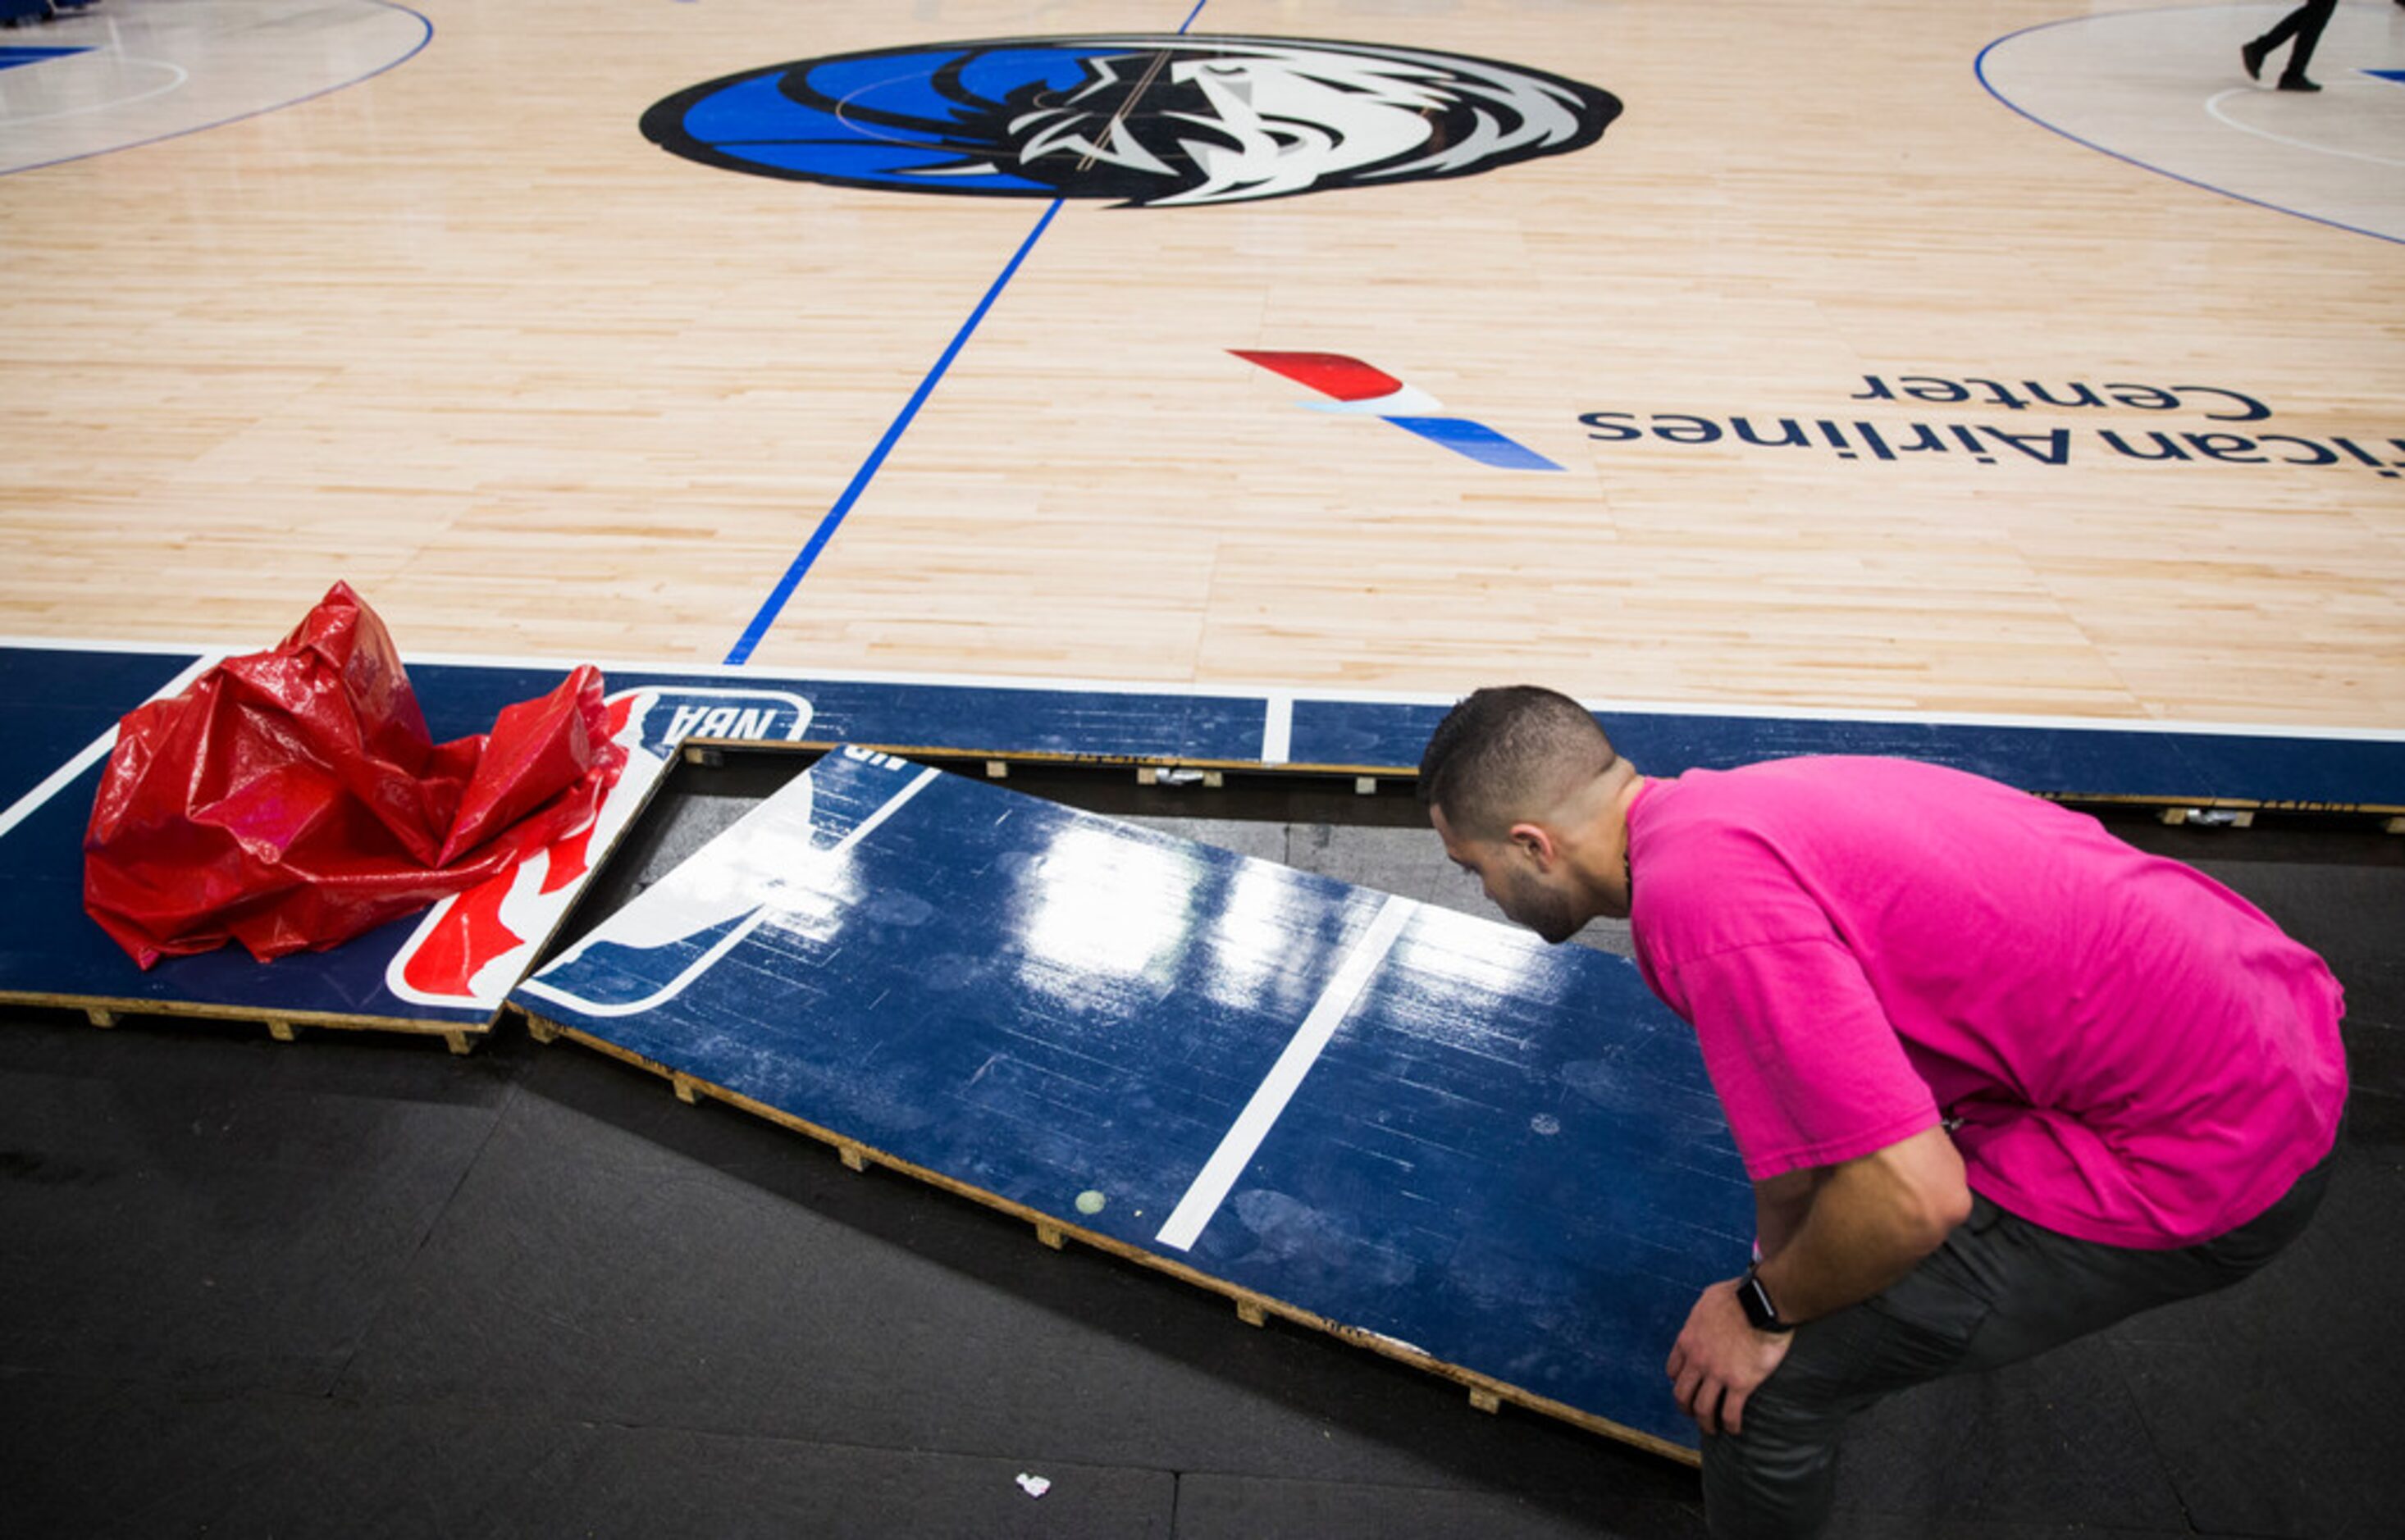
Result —
<path fill-rule="evenodd" d="M 589 665 L 433 742 L 385 622 L 334 584 L 274 651 L 125 716 L 84 911 L 144 968 L 322 951 L 587 829 L 620 769 Z"/>

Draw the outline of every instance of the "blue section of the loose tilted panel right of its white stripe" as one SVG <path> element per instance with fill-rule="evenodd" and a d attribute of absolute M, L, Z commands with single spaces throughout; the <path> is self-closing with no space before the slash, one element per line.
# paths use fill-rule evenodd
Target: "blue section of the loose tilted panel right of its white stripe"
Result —
<path fill-rule="evenodd" d="M 1248 1175 L 1210 1271 L 1304 1271 L 1352 1324 L 1693 1444 L 1662 1365 L 1744 1271 L 1751 1187 L 1633 966 L 1421 911 Z"/>

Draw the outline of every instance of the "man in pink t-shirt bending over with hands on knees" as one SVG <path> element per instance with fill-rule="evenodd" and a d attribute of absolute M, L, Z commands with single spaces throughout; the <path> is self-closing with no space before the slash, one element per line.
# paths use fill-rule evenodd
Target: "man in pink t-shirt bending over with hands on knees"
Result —
<path fill-rule="evenodd" d="M 1813 1535 L 1845 1420 L 2237 1283 L 2328 1184 L 2338 980 L 2095 819 L 1907 759 L 1645 778 L 1578 702 L 1429 740 L 1445 853 L 1549 942 L 1626 918 L 1696 1028 L 1758 1261 L 1669 1353 L 1715 1535 Z"/>

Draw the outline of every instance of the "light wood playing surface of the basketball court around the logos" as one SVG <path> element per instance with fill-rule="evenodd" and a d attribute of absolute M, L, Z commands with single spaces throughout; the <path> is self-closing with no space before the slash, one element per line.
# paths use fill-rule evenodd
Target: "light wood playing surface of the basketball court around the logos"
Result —
<path fill-rule="evenodd" d="M 346 5 L 390 31 L 334 0 L 190 74 L 320 70 Z M 1207 0 L 1198 34 L 1467 53 L 1626 111 L 1457 180 L 1068 202 L 753 661 L 2405 726 L 2405 245 L 2054 132 L 1977 67 L 2047 26 L 2203 142 L 2280 10 Z M 414 12 L 426 46 L 358 84 L 0 178 L 0 632 L 262 646 L 349 579 L 409 651 L 721 661 L 1049 204 L 738 175 L 642 111 L 782 60 L 1166 34 L 1193 0 Z M 2083 41 L 2116 12 L 2150 22 Z M 2174 50 L 2193 89 L 2140 67 Z M 2357 226 L 2405 209 L 2405 142 L 2333 127 L 2405 106 L 2379 67 L 2405 10 L 2357 0 L 2323 96 L 2239 103 Z M 0 72 L 0 135 L 43 70 Z M 1231 348 L 1361 358 L 1563 471 L 1306 411 Z M 1972 380 L 2136 404 L 1941 399 Z M 2215 420 L 2234 399 L 2270 418 Z M 1950 447 L 1886 461 L 1857 420 Z M 2032 456 L 2054 428 L 2066 464 Z M 2184 437 L 2215 432 L 2249 447 Z"/>

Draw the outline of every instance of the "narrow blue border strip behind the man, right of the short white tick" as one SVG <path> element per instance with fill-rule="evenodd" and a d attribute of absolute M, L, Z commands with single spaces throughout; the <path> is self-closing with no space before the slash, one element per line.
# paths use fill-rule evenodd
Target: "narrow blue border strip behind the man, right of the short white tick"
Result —
<path fill-rule="evenodd" d="M 1443 716 L 1445 706 L 1299 699 L 1289 757 L 1417 766 Z M 1614 745 L 1657 776 L 1789 754 L 1900 754 L 2056 795 L 2405 805 L 2400 740 L 1647 711 L 1607 711 L 1604 721 Z"/>

